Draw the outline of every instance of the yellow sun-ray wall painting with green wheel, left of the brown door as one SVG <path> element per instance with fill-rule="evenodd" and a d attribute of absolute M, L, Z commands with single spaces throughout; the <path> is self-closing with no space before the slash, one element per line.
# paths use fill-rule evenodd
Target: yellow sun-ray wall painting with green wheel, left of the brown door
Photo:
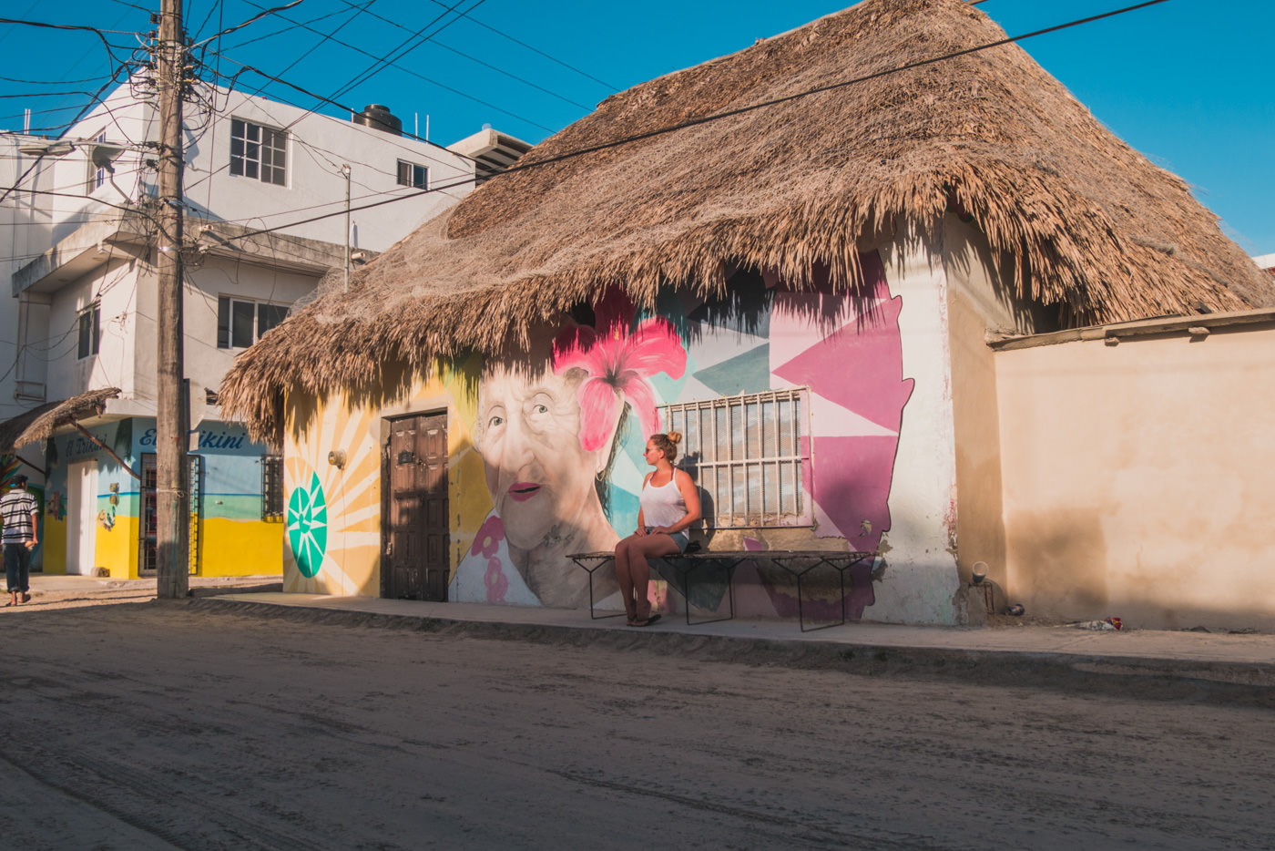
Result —
<path fill-rule="evenodd" d="M 366 411 L 352 413 L 343 399 L 329 398 L 303 443 L 289 435 L 283 464 L 284 591 L 380 593 L 380 454 L 370 425 Z M 329 463 L 330 452 L 344 452 L 344 464 Z"/>

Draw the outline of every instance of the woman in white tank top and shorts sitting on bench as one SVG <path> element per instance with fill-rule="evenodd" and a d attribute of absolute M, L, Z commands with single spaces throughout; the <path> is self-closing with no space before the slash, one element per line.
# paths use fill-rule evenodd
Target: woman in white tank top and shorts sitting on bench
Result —
<path fill-rule="evenodd" d="M 638 528 L 616 545 L 616 578 L 625 600 L 630 626 L 650 626 L 659 620 L 652 614 L 646 586 L 650 582 L 648 559 L 686 551 L 688 529 L 700 519 L 700 491 L 685 470 L 674 470 L 677 431 L 653 434 L 646 441 L 646 463 L 655 472 L 646 473 L 641 485 Z"/>

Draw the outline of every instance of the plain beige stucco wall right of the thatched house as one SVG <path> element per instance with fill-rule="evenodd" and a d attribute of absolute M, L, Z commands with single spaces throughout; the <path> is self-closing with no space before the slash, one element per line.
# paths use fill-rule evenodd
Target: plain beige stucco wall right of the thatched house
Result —
<path fill-rule="evenodd" d="M 1011 601 L 1275 628 L 1275 322 L 996 353 Z"/>

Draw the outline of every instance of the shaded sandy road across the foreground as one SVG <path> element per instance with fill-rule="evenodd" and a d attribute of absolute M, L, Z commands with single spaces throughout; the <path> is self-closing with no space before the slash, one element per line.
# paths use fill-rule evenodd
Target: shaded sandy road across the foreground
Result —
<path fill-rule="evenodd" d="M 1266 709 L 208 601 L 0 634 L 3 848 L 1275 847 Z"/>

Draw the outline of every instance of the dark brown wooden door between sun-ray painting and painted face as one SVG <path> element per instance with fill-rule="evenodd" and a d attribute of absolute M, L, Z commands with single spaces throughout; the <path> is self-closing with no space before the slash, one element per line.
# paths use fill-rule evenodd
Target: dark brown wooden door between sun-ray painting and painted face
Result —
<path fill-rule="evenodd" d="M 391 598 L 448 598 L 448 416 L 426 413 L 391 420 L 382 481 L 382 593 Z"/>

